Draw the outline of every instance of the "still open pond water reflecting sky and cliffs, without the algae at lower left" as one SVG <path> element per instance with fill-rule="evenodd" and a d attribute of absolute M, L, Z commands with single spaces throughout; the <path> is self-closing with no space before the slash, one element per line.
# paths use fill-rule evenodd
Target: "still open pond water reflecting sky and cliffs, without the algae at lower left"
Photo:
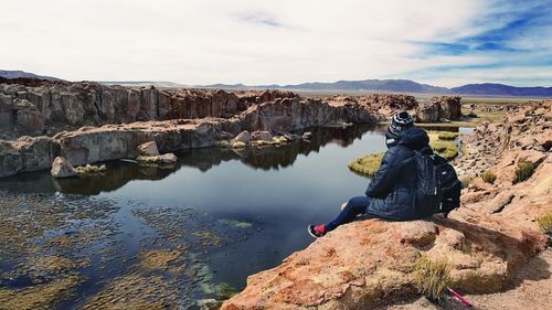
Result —
<path fill-rule="evenodd" d="M 0 190 L 76 200 L 76 209 L 87 204 L 82 197 L 114 204 L 98 215 L 104 224 L 95 224 L 109 227 L 108 236 L 79 250 L 56 249 L 68 256 L 77 252 L 89 261 L 78 271 L 85 280 L 59 308 L 86 303 L 116 277 L 136 271 L 140 253 L 152 248 L 180 249 L 189 269 L 202 264 L 182 276 L 162 270 L 163 277 L 180 279 L 177 293 L 185 300 L 179 302 L 194 308 L 194 300 L 215 295 L 216 284 L 242 289 L 248 275 L 275 267 L 310 244 L 309 223 L 329 221 L 342 202 L 364 192 L 369 180 L 350 172 L 347 163 L 384 151 L 384 130 L 326 128 L 315 130 L 310 142 L 183 151 L 177 167 L 168 170 L 112 162 L 97 177 L 54 180 L 46 172 L 30 173 L 0 181 Z M 67 229 L 76 228 L 63 225 L 46 233 L 66 235 Z"/>

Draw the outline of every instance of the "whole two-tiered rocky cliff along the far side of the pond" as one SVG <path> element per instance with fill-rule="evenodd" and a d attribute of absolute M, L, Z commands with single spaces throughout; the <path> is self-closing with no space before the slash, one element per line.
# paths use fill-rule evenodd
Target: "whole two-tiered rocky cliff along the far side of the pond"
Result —
<path fill-rule="evenodd" d="M 159 151 L 171 152 L 213 146 L 243 130 L 263 132 L 255 140 L 270 141 L 272 135 L 309 127 L 381 121 L 379 110 L 385 105 L 415 106 L 407 96 L 367 98 L 322 100 L 280 90 L 159 90 L 88 82 L 0 84 L 0 133 L 19 138 L 0 146 L 0 178 L 50 169 L 57 156 L 81 165 L 136 158 L 137 147 L 153 140 Z M 42 133 L 47 137 L 21 138 Z"/>

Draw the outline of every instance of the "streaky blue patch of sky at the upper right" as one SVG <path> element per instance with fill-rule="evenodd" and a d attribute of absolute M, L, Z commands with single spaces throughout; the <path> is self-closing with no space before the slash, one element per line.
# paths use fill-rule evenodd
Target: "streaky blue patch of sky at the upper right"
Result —
<path fill-rule="evenodd" d="M 454 40 L 413 42 L 420 57 L 438 55 L 489 57 L 477 64 L 436 65 L 406 74 L 411 78 L 445 79 L 459 75 L 513 85 L 552 86 L 552 1 L 488 1 L 471 18 L 474 32 Z"/>

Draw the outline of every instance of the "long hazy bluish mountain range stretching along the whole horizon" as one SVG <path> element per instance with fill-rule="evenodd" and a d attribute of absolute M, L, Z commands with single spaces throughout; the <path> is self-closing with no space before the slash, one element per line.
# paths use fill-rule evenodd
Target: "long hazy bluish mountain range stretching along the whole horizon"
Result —
<path fill-rule="evenodd" d="M 60 79 L 51 76 L 42 76 L 23 71 L 1 71 L 0 77 L 4 78 L 41 78 Z M 103 84 L 118 84 L 124 86 L 145 86 L 153 85 L 156 87 L 191 87 L 172 82 L 99 82 Z M 362 81 L 338 81 L 333 83 L 302 83 L 295 85 L 255 85 L 244 84 L 212 84 L 195 85 L 199 88 L 223 88 L 223 89 L 294 89 L 294 90 L 333 90 L 333 92 L 386 92 L 386 93 L 413 93 L 413 94 L 450 94 L 450 95 L 478 95 L 478 96 L 508 96 L 508 97 L 552 97 L 552 87 L 516 87 L 505 84 L 467 84 L 459 87 L 446 88 L 428 84 L 421 84 L 410 79 L 362 79 Z"/>

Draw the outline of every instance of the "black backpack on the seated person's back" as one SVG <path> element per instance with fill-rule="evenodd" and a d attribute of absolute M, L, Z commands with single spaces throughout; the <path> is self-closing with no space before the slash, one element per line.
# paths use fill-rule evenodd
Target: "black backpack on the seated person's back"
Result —
<path fill-rule="evenodd" d="M 414 151 L 417 171 L 416 213 L 428 217 L 448 213 L 460 206 L 461 183 L 453 165 L 431 149 Z"/>

